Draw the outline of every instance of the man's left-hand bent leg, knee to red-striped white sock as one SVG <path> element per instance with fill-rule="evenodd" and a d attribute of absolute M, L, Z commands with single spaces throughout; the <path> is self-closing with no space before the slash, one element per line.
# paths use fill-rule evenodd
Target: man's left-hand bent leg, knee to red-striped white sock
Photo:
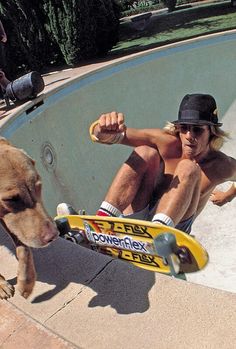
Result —
<path fill-rule="evenodd" d="M 117 216 L 145 208 L 150 202 L 159 169 L 157 149 L 148 146 L 135 148 L 115 176 L 97 214 Z"/>

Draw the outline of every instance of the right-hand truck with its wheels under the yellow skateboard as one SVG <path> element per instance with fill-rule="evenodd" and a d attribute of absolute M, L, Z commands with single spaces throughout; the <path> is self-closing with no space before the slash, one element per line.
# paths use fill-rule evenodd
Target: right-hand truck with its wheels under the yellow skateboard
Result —
<path fill-rule="evenodd" d="M 180 271 L 180 259 L 177 255 L 178 245 L 174 234 L 160 234 L 154 239 L 157 254 L 163 258 L 164 263 L 170 266 L 171 275 L 176 276 Z"/>

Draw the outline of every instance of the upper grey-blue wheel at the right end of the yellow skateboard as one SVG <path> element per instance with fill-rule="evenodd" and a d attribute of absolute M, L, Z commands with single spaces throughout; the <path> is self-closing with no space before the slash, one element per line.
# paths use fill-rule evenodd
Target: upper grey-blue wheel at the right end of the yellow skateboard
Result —
<path fill-rule="evenodd" d="M 175 253 L 178 248 L 176 238 L 174 234 L 171 233 L 158 235 L 154 239 L 154 244 L 157 254 L 163 258 L 167 258 L 172 253 Z"/>

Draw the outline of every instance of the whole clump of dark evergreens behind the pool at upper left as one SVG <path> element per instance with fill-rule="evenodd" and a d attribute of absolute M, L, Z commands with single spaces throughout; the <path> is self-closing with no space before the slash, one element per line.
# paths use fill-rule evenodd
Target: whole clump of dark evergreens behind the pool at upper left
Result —
<path fill-rule="evenodd" d="M 51 64 L 76 65 L 118 41 L 115 0 L 0 0 L 12 76 Z"/>

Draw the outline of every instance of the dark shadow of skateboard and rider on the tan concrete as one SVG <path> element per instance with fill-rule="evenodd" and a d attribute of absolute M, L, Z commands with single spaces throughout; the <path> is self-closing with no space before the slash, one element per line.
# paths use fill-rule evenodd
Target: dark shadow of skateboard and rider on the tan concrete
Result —
<path fill-rule="evenodd" d="M 0 244 L 14 253 L 7 234 L 1 234 Z M 42 293 L 32 303 L 48 301 L 74 283 L 79 285 L 76 297 L 88 287 L 96 293 L 88 299 L 88 307 L 111 306 L 119 314 L 143 313 L 149 309 L 148 294 L 155 283 L 154 272 L 113 260 L 61 238 L 46 248 L 34 249 L 33 254 L 37 281 L 44 285 L 40 288 Z M 16 283 L 15 279 L 11 281 Z"/>

